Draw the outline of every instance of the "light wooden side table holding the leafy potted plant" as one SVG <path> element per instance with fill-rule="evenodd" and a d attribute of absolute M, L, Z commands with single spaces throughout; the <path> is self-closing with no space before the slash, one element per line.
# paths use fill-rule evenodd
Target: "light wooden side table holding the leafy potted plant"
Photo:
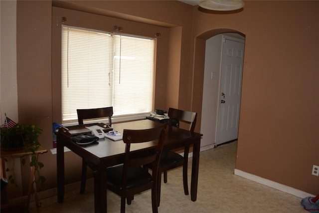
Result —
<path fill-rule="evenodd" d="M 36 151 L 35 151 L 35 157 L 38 157 L 39 154 L 43 154 L 46 153 L 47 150 L 44 149 L 43 147 L 39 147 Z M 29 158 L 31 159 L 33 153 L 32 152 L 28 152 L 25 149 L 23 150 L 17 150 L 17 151 L 2 151 L 1 150 L 1 156 L 0 158 L 2 159 L 2 172 L 3 172 L 3 178 L 6 178 L 6 167 L 5 167 L 5 161 L 3 160 L 4 158 L 21 158 L 23 156 L 29 156 Z M 34 190 L 34 200 L 35 200 L 35 205 L 36 205 L 36 211 L 39 213 L 39 201 L 38 201 L 38 196 L 37 196 L 37 192 L 36 189 L 34 189 L 34 185 L 32 185 L 32 182 L 35 180 L 34 178 L 34 171 L 35 168 L 31 167 L 31 173 L 30 173 L 30 180 L 29 180 L 29 188 L 28 188 L 28 196 L 25 200 L 17 202 L 17 203 L 7 203 L 7 201 L 4 201 L 4 204 L 1 203 L 1 210 L 2 209 L 7 209 L 10 207 L 15 207 L 15 206 L 20 206 L 25 204 L 26 208 L 29 208 L 29 204 L 30 204 L 30 199 L 31 199 L 31 193 L 32 193 L 32 187 Z M 6 189 L 3 189 L 3 192 L 1 192 L 1 194 L 6 194 Z"/>

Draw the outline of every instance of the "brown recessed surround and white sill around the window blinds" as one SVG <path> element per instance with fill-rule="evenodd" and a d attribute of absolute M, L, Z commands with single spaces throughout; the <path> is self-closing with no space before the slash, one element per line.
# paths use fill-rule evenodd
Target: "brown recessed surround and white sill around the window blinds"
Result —
<path fill-rule="evenodd" d="M 62 18 L 62 17 L 65 17 Z M 64 22 L 62 21 L 64 20 Z M 102 31 L 115 31 L 114 26 L 121 26 L 123 34 L 134 34 L 137 36 L 155 37 L 160 33 L 160 39 L 155 40 L 155 73 L 154 73 L 154 109 L 155 107 L 165 109 L 166 103 L 166 85 L 167 85 L 167 51 L 168 51 L 168 33 L 171 26 L 154 25 L 132 21 L 128 19 L 115 18 L 107 15 L 98 15 L 85 11 L 66 9 L 52 6 L 52 102 L 47 103 L 52 107 L 52 122 L 62 124 L 61 115 L 61 25 L 90 28 Z M 121 118 L 112 117 L 112 123 L 126 122 L 131 120 L 145 119 L 149 115 L 135 114 Z M 63 124 L 65 126 L 77 125 L 77 122 Z"/>

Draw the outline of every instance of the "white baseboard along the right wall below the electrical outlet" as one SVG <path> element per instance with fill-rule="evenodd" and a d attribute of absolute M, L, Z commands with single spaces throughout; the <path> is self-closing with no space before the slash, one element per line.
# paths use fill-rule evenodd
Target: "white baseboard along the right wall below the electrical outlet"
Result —
<path fill-rule="evenodd" d="M 292 188 L 292 187 L 289 187 L 289 186 L 286 186 L 286 185 L 283 185 L 283 184 L 280 184 L 280 183 L 277 183 L 277 182 L 274 182 L 274 181 L 271 181 L 271 180 L 268 180 L 268 179 L 265 179 L 265 178 L 262 178 L 262 177 L 259 177 L 256 175 L 246 173 L 246 172 L 243 172 L 243 171 L 238 170 L 238 169 L 234 170 L 234 174 L 237 176 L 246 178 L 248 180 L 257 182 L 259 184 L 262 184 L 262 185 L 280 190 L 282 192 L 297 196 L 299 198 L 315 197 L 315 195 L 309 194 L 307 192 L 303 192 L 301 190 L 298 190 L 298 189 L 295 189 L 295 188 Z"/>

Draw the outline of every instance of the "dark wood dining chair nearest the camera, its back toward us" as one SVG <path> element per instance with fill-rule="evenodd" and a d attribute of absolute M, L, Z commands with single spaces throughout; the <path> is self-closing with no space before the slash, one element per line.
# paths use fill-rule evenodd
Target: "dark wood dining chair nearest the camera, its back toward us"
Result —
<path fill-rule="evenodd" d="M 131 204 L 134 195 L 149 189 L 152 189 L 153 213 L 158 213 L 158 167 L 165 138 L 165 126 L 166 124 L 146 130 L 123 131 L 123 142 L 126 144 L 124 164 L 107 169 L 107 189 L 121 196 L 121 213 L 125 213 L 125 199 Z M 130 150 L 131 145 L 150 141 L 157 141 L 157 146 L 147 154 Z M 152 175 L 141 167 L 146 164 L 153 165 Z"/>

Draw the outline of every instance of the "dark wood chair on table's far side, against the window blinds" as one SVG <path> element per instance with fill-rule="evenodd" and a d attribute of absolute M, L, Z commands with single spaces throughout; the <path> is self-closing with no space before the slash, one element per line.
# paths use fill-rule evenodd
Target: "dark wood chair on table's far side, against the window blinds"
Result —
<path fill-rule="evenodd" d="M 104 108 L 95 108 L 95 109 L 77 109 L 78 114 L 78 122 L 79 125 L 83 125 L 83 120 L 94 120 L 94 119 L 101 119 L 101 118 L 108 118 L 109 125 L 112 125 L 112 115 L 113 115 L 113 107 L 104 107 Z M 81 188 L 80 193 L 83 194 L 85 191 L 86 185 L 86 174 L 87 174 L 87 167 L 89 167 L 93 172 L 95 171 L 95 166 L 82 159 L 82 175 L 81 175 Z"/>

